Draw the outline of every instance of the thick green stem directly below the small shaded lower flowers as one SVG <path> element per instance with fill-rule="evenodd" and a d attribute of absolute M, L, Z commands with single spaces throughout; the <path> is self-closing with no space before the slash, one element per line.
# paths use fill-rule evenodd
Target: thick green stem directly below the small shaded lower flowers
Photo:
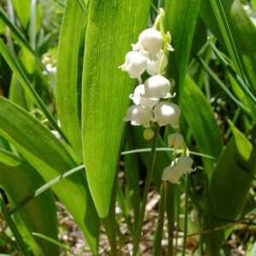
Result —
<path fill-rule="evenodd" d="M 161 241 L 163 236 L 165 208 L 166 208 L 166 182 L 164 181 L 161 183 L 158 224 L 154 233 L 153 255 L 155 256 L 161 255 Z"/>

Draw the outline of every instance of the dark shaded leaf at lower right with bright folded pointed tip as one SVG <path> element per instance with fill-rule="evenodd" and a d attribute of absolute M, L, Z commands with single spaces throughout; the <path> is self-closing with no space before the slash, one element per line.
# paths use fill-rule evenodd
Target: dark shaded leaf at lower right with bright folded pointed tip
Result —
<path fill-rule="evenodd" d="M 253 145 L 233 124 L 230 123 L 230 127 L 233 137 L 218 159 L 207 191 L 207 229 L 224 225 L 239 217 L 256 172 L 256 152 Z M 211 255 L 218 255 L 223 234 L 223 231 L 212 231 L 207 235 Z"/>

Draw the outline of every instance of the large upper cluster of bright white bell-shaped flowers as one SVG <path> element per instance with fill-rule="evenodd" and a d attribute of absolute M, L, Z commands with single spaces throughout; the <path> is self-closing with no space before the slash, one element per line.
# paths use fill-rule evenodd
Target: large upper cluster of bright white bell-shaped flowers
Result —
<path fill-rule="evenodd" d="M 161 10 L 159 17 L 163 15 Z M 148 128 L 151 122 L 157 122 L 160 126 L 171 124 L 173 128 L 178 127 L 180 108 L 175 103 L 160 102 L 172 97 L 172 84 L 162 76 L 168 62 L 165 51 L 173 50 L 170 42 L 170 33 L 148 28 L 139 35 L 137 44 L 131 44 L 133 50 L 125 55 L 125 63 L 120 68 L 131 78 L 142 83 L 141 76 L 145 71 L 151 75 L 130 96 L 134 105 L 127 109 L 124 120 L 131 121 L 131 125 Z"/>

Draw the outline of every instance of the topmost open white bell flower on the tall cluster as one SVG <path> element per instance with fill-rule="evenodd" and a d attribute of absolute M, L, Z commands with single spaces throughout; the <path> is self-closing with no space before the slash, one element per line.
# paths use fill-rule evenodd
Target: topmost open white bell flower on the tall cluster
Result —
<path fill-rule="evenodd" d="M 149 52 L 151 58 L 154 59 L 155 55 L 160 51 L 163 46 L 163 38 L 161 33 L 154 29 L 145 29 L 139 35 L 137 44 L 131 44 L 133 50 L 143 49 Z"/>

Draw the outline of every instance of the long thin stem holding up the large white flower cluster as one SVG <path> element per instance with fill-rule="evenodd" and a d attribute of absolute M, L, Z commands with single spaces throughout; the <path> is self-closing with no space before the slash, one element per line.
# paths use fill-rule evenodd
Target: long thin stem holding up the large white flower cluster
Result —
<path fill-rule="evenodd" d="M 143 219 L 144 219 L 146 205 L 147 205 L 150 181 L 151 181 L 152 173 L 154 170 L 154 160 L 155 160 L 155 153 L 156 153 L 156 146 L 157 146 L 159 130 L 160 130 L 160 126 L 158 124 L 156 124 L 152 148 L 151 148 L 151 160 L 150 160 L 150 165 L 148 166 L 147 177 L 146 177 L 145 186 L 144 186 L 144 190 L 143 190 L 143 202 L 142 202 L 142 206 L 140 209 L 140 215 L 139 215 L 138 222 L 137 222 L 137 228 L 135 231 L 135 240 L 134 240 L 134 247 L 133 247 L 133 253 L 132 253 L 133 256 L 137 256 L 140 236 L 141 236 L 141 232 L 143 229 Z"/>

